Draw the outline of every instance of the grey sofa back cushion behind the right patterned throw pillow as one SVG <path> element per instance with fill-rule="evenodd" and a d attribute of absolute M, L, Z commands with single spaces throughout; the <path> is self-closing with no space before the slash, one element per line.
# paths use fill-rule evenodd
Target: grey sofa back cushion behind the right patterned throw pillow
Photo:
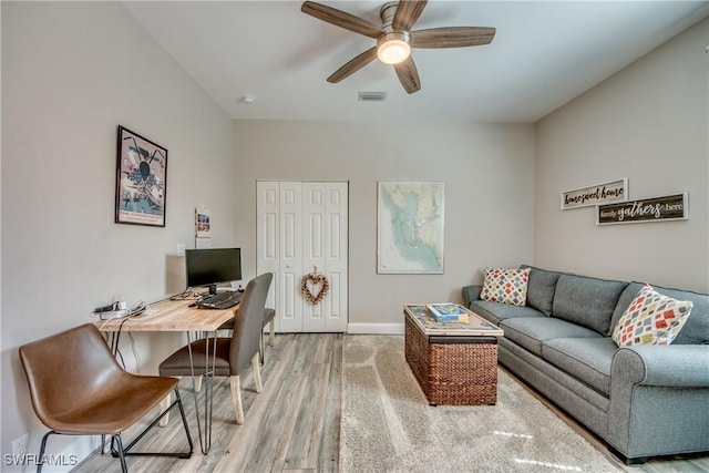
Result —
<path fill-rule="evenodd" d="M 610 321 L 612 330 L 618 323 L 618 320 L 628 309 L 630 302 L 635 299 L 635 296 L 637 296 L 643 286 L 643 282 L 630 282 L 628 287 L 625 288 L 613 312 L 613 319 Z M 685 326 L 672 341 L 672 345 L 709 343 L 709 295 L 689 290 L 668 289 L 660 286 L 653 286 L 653 289 L 672 299 L 689 300 L 693 304 Z"/>

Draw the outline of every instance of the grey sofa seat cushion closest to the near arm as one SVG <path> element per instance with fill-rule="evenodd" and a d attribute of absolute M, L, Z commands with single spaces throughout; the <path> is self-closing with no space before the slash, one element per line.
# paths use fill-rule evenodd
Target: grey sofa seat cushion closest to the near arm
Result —
<path fill-rule="evenodd" d="M 610 366 L 618 347 L 609 337 L 555 338 L 544 342 L 542 357 L 585 382 L 610 394 Z"/>

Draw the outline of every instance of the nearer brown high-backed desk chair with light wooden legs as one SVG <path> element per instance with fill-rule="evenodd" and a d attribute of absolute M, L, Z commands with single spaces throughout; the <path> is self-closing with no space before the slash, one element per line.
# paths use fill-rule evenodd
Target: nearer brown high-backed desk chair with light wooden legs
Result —
<path fill-rule="evenodd" d="M 254 381 L 256 392 L 263 391 L 261 373 L 259 363 L 259 347 L 261 331 L 264 327 L 264 308 L 266 296 L 270 288 L 274 275 L 265 273 L 251 279 L 234 318 L 234 331 L 230 338 L 216 339 L 216 356 L 214 360 L 214 376 L 229 377 L 232 384 L 232 401 L 236 413 L 236 423 L 244 423 L 244 410 L 242 407 L 240 373 L 249 363 L 254 370 Z M 209 357 L 214 354 L 213 343 L 209 341 Z M 188 377 L 206 376 L 207 367 L 203 363 L 193 363 L 192 360 L 206 359 L 206 339 L 195 340 L 189 346 L 185 346 L 171 354 L 160 366 L 161 376 Z M 192 353 L 191 353 L 192 350 Z M 212 369 L 213 360 L 209 359 Z"/>

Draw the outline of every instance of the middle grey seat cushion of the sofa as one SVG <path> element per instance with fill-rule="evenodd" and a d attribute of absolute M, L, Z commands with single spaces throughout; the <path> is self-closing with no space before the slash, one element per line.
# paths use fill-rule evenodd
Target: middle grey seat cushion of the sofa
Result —
<path fill-rule="evenodd" d="M 555 338 L 598 338 L 594 330 L 553 317 L 517 317 L 500 322 L 505 338 L 541 357 L 542 346 Z"/>

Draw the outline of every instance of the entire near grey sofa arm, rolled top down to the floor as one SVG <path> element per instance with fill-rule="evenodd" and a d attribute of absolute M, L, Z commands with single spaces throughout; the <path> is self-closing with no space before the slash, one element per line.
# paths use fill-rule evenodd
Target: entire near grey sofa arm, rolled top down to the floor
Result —
<path fill-rule="evenodd" d="M 709 451 L 709 346 L 620 348 L 610 368 L 607 442 L 629 460 Z"/>

